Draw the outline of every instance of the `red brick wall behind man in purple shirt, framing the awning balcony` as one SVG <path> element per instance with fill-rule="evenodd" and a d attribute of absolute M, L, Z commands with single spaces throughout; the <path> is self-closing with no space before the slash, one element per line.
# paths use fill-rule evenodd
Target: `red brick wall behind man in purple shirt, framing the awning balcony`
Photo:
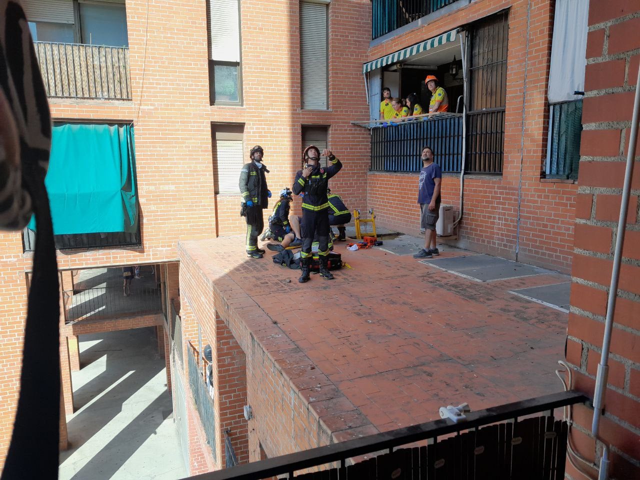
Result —
<path fill-rule="evenodd" d="M 553 3 L 548 0 L 476 1 L 422 28 L 376 45 L 369 50 L 369 60 L 504 8 L 509 8 L 509 39 L 503 174 L 465 177 L 464 214 L 455 244 L 568 273 L 577 185 L 541 179 L 547 156 L 547 78 Z M 416 156 L 419 155 L 420 152 L 416 152 Z M 443 180 L 442 195 L 443 203 L 459 210 L 458 177 Z M 376 173 L 368 177 L 368 207 L 376 210 L 377 221 L 383 227 L 415 234 L 419 229 L 416 199 L 416 175 Z"/>

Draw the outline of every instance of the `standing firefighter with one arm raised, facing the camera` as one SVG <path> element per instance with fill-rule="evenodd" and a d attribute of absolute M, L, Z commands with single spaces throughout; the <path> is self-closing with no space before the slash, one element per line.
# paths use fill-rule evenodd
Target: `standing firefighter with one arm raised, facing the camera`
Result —
<path fill-rule="evenodd" d="M 318 258 L 320 262 L 320 275 L 327 280 L 332 280 L 333 275 L 328 269 L 327 255 L 329 254 L 329 201 L 326 191 L 329 179 L 340 172 L 342 163 L 325 148 L 323 156 L 329 159 L 329 166 L 320 167 L 320 150 L 315 145 L 309 145 L 302 158 L 305 162 L 304 170 L 298 170 L 293 182 L 293 193 L 304 193 L 302 200 L 302 252 L 300 254 L 302 275 L 298 282 L 309 280 L 309 269 L 312 261 L 311 245 L 314 237 L 318 239 Z"/>

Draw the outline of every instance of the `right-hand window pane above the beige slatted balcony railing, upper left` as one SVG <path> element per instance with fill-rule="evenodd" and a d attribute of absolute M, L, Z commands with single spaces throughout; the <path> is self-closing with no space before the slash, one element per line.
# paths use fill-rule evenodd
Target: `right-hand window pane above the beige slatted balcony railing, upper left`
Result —
<path fill-rule="evenodd" d="M 124 3 L 79 3 L 81 42 L 88 45 L 128 47 Z"/>

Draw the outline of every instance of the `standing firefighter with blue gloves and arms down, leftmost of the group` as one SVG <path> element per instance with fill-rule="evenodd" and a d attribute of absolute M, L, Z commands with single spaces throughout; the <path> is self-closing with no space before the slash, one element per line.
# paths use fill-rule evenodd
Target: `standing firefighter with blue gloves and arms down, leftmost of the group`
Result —
<path fill-rule="evenodd" d="M 251 259 L 261 259 L 264 250 L 258 248 L 258 236 L 264 228 L 262 211 L 269 206 L 271 191 L 267 188 L 266 173 L 262 163 L 264 150 L 260 145 L 251 149 L 250 163 L 245 163 L 240 170 L 239 188 L 243 199 L 243 211 L 246 216 L 246 255 Z"/>

